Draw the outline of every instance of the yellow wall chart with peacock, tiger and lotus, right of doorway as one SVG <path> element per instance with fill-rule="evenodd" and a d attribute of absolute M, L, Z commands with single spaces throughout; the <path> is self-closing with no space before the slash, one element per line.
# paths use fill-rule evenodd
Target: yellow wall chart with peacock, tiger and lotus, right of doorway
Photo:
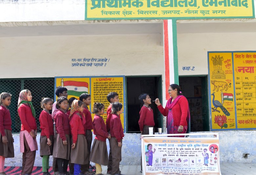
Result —
<path fill-rule="evenodd" d="M 208 52 L 208 67 L 212 130 L 256 129 L 256 51 Z"/>

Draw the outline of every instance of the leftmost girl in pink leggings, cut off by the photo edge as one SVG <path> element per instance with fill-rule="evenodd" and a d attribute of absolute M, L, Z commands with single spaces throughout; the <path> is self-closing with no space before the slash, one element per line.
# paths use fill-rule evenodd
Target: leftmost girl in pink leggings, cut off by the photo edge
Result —
<path fill-rule="evenodd" d="M 11 134 L 11 114 L 7 106 L 11 104 L 11 94 L 0 94 L 0 175 L 4 175 L 5 158 L 14 157 Z"/>

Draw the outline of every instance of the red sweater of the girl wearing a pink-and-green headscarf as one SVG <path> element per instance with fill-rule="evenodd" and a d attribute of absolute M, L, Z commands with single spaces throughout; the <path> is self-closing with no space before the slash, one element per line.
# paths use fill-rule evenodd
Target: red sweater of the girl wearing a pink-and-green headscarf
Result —
<path fill-rule="evenodd" d="M 18 114 L 21 121 L 20 131 L 27 130 L 28 132 L 30 132 L 31 130 L 37 130 L 35 118 L 29 105 L 26 105 L 24 103 L 21 104 L 18 109 Z"/>

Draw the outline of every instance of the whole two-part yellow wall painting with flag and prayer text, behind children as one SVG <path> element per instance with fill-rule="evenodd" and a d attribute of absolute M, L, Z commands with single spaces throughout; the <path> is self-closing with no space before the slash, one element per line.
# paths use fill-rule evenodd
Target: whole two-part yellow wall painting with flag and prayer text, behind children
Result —
<path fill-rule="evenodd" d="M 119 96 L 119 102 L 123 104 L 124 112 L 120 114 L 121 122 L 126 131 L 125 126 L 125 103 L 124 103 L 124 77 L 123 76 L 106 76 L 106 77 L 55 77 L 55 88 L 57 86 L 64 86 L 68 89 L 68 98 L 75 97 L 79 99 L 82 93 L 88 93 L 91 95 L 92 103 L 89 110 L 92 114 L 94 102 L 101 102 L 105 105 L 105 113 L 103 119 L 106 122 L 107 108 L 109 102 L 107 100 L 107 94 L 110 92 L 117 92 Z M 55 96 L 57 99 L 57 96 Z"/>

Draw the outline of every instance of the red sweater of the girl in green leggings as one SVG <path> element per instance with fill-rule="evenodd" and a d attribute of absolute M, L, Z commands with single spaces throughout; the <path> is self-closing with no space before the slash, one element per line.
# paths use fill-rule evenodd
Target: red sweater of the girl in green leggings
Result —
<path fill-rule="evenodd" d="M 54 135 L 53 132 L 53 119 L 52 115 L 43 110 L 39 116 L 41 135 L 50 138 L 50 135 Z"/>

